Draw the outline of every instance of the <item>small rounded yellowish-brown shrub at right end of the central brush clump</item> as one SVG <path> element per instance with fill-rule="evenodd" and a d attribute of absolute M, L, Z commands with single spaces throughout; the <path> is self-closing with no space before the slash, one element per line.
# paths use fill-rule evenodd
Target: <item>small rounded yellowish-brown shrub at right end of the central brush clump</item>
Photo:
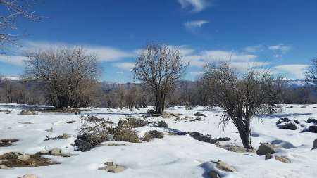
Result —
<path fill-rule="evenodd" d="M 138 143 L 139 137 L 134 129 L 134 122 L 131 122 L 130 118 L 120 120 L 118 126 L 114 130 L 113 139 L 116 141 L 129 141 L 132 143 Z"/>

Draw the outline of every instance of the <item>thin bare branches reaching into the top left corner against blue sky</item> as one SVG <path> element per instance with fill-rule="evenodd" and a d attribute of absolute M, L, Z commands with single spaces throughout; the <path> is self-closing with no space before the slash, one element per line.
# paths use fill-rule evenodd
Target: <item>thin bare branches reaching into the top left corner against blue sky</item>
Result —
<path fill-rule="evenodd" d="M 0 0 L 0 45 L 15 44 L 17 35 L 11 31 L 17 30 L 18 18 L 28 20 L 39 20 L 35 15 L 33 6 L 35 0 Z"/>

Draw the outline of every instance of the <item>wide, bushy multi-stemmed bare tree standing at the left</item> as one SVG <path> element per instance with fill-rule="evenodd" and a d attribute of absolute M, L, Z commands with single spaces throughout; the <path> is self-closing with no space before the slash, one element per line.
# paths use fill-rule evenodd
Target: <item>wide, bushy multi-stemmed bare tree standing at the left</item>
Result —
<path fill-rule="evenodd" d="M 43 80 L 56 108 L 87 106 L 100 72 L 96 56 L 80 48 L 61 48 L 30 53 L 26 63 L 25 78 Z"/>

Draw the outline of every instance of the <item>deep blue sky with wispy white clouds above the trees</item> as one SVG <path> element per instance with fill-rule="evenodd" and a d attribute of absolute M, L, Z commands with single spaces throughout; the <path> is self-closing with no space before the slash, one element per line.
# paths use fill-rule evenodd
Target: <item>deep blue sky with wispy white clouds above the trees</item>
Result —
<path fill-rule="evenodd" d="M 19 46 L 0 54 L 0 73 L 23 73 L 23 51 L 82 46 L 97 53 L 101 80 L 132 82 L 130 69 L 148 42 L 182 51 L 195 80 L 208 61 L 228 60 L 238 70 L 271 68 L 287 78 L 317 57 L 314 0 L 104 0 L 39 1 L 41 22 L 20 20 Z"/>

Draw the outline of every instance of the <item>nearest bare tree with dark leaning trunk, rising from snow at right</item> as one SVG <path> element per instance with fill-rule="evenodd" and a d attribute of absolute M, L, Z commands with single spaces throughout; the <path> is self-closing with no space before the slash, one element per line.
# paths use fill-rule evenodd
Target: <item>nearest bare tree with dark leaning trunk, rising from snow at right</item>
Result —
<path fill-rule="evenodd" d="M 223 108 L 220 123 L 232 121 L 240 134 L 244 148 L 251 145 L 251 120 L 254 115 L 266 113 L 267 82 L 271 76 L 268 70 L 259 72 L 249 68 L 246 74 L 238 74 L 228 62 L 206 65 L 204 76 L 212 84 L 211 94 L 216 95 L 216 103 Z"/>

